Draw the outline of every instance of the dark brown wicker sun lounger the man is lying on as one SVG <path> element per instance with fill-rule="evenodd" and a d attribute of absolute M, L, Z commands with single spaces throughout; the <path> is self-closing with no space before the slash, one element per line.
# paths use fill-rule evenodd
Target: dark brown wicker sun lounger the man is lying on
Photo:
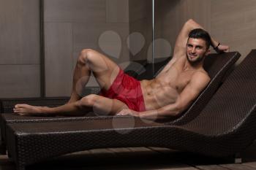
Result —
<path fill-rule="evenodd" d="M 239 53 L 233 52 L 233 53 L 223 53 L 223 54 L 212 54 L 209 55 L 208 58 L 206 58 L 205 61 L 205 68 L 208 74 L 211 77 L 211 82 L 206 87 L 205 90 L 200 94 L 200 96 L 195 100 L 195 102 L 192 104 L 189 109 L 184 112 L 184 119 L 192 119 L 192 117 L 195 117 L 197 113 L 200 112 L 200 110 L 205 107 L 208 100 L 211 98 L 211 96 L 214 94 L 214 92 L 217 90 L 219 85 L 222 82 L 222 79 L 225 77 L 225 74 L 227 74 L 227 71 L 230 70 L 230 68 L 236 63 L 238 58 L 240 57 Z M 159 69 L 159 68 L 157 68 Z M 139 75 L 140 76 L 140 75 Z M 140 77 L 141 78 L 141 77 Z M 11 111 L 10 108 L 13 107 L 14 104 L 17 104 L 18 102 L 22 101 L 3 101 L 3 107 L 4 111 Z M 23 101 L 24 103 L 28 103 L 26 100 Z M 45 102 L 42 101 L 42 104 Z M 31 102 L 30 102 L 31 104 Z M 32 103 L 33 104 L 33 103 Z M 35 104 L 37 105 L 37 104 Z M 47 104 L 45 104 L 47 105 Z M 193 114 L 192 114 L 193 113 Z M 187 116 L 190 115 L 190 116 Z M 178 121 L 176 120 L 175 123 L 182 122 L 183 118 L 178 118 Z M 6 143 L 6 125 L 7 123 L 19 123 L 19 122 L 48 122 L 48 121 L 69 121 L 69 120 L 89 120 L 89 119 L 98 119 L 100 117 L 20 117 L 15 114 L 5 113 L 0 115 L 0 125 L 1 125 L 1 148 L 2 148 L 2 154 L 5 153 L 5 143 Z M 104 119 L 111 119 L 111 117 L 102 117 Z M 167 121 L 167 120 L 165 120 Z M 170 122 L 171 120 L 168 120 Z"/>

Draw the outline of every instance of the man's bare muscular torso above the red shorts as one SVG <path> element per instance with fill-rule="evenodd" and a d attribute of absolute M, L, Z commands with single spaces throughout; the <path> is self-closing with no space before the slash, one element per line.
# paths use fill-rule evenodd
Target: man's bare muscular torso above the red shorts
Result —
<path fill-rule="evenodd" d="M 159 109 L 175 103 L 195 72 L 207 74 L 203 68 L 185 70 L 186 60 L 186 58 L 178 60 L 171 66 L 167 64 L 153 80 L 140 81 L 146 110 Z"/>

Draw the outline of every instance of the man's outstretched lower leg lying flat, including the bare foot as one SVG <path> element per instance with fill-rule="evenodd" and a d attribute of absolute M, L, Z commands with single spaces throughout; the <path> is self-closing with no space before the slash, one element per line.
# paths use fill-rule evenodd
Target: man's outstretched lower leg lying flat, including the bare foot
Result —
<path fill-rule="evenodd" d="M 86 115 L 91 111 L 97 115 L 116 115 L 121 109 L 128 109 L 128 107 L 117 99 L 91 94 L 60 107 L 36 107 L 29 104 L 16 104 L 14 112 L 25 116 L 75 116 Z"/>

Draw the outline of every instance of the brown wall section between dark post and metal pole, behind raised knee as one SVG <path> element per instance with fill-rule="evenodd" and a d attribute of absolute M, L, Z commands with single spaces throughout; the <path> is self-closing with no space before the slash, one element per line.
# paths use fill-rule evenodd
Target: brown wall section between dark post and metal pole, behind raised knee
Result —
<path fill-rule="evenodd" d="M 70 95 L 78 55 L 86 48 L 122 69 L 151 62 L 151 9 L 148 0 L 44 0 L 45 95 Z M 95 79 L 90 86 L 97 86 Z"/>

